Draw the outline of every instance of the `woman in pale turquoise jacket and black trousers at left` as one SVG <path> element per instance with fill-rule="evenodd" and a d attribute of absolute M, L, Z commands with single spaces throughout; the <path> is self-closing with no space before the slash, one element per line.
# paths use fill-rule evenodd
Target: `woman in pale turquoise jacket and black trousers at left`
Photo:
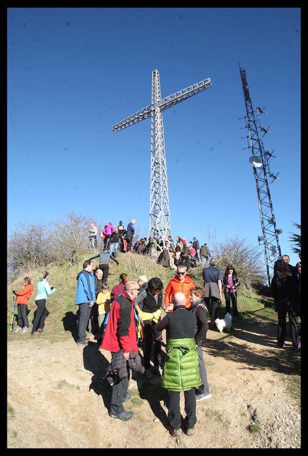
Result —
<path fill-rule="evenodd" d="M 31 335 L 41 334 L 45 331 L 45 319 L 49 312 L 46 308 L 47 296 L 54 294 L 56 289 L 49 285 L 49 272 L 45 271 L 41 280 L 37 283 L 37 294 L 35 296 L 35 304 L 37 306 L 36 315 L 33 321 Z"/>

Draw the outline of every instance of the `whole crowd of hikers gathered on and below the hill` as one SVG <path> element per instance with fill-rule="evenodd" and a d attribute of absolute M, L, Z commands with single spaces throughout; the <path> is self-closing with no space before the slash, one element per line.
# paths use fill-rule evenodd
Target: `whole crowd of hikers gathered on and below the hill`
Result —
<path fill-rule="evenodd" d="M 78 307 L 77 344 L 87 346 L 90 330 L 98 340 L 100 349 L 110 351 L 111 362 L 105 379 L 112 388 L 109 416 L 122 421 L 131 420 L 133 412 L 124 408 L 130 399 L 128 390 L 130 369 L 145 374 L 150 381 L 161 378 L 162 386 L 168 391 L 169 430 L 172 435 L 181 434 L 180 392 L 185 400 L 185 432 L 192 435 L 197 422 L 196 401 L 211 398 L 208 385 L 203 347 L 206 346 L 207 331 L 216 330 L 222 291 L 225 298 L 225 314 L 231 312 L 236 320 L 238 312 L 237 289 L 240 286 L 234 265 L 227 264 L 224 274 L 216 268 L 216 259 L 210 258 L 206 244 L 188 242 L 177 237 L 176 245 L 168 238 L 165 247 L 154 234 L 150 242 L 137 241 L 132 247 L 135 220 L 125 229 L 122 221 L 117 227 L 109 222 L 101 233 L 102 251 L 84 261 L 82 271 L 76 276 L 75 304 Z M 90 227 L 90 250 L 97 248 L 97 228 Z M 119 251 L 133 251 L 151 256 L 165 267 L 176 270 L 175 277 L 164 287 L 162 280 L 141 275 L 137 281 L 129 280 L 122 273 L 120 280 L 111 290 L 108 284 L 110 258 L 120 267 Z M 94 270 L 94 259 L 99 259 Z M 172 261 L 171 261 L 172 258 Z M 203 264 L 203 284 L 198 285 L 187 275 L 196 264 Z M 286 337 L 286 314 L 294 350 L 300 349 L 297 316 L 300 316 L 300 272 L 289 264 L 288 255 L 278 258 L 272 280 L 275 309 L 278 312 L 278 347 L 283 348 Z M 209 262 L 209 265 L 207 264 Z M 31 335 L 41 334 L 49 312 L 46 308 L 48 295 L 55 293 L 49 285 L 49 273 L 45 271 L 37 284 L 36 315 Z M 13 290 L 17 296 L 18 327 L 15 332 L 25 334 L 29 330 L 27 304 L 34 289 L 29 277 L 24 278 L 22 290 Z M 165 290 L 164 290 L 165 288 Z M 210 325 L 208 323 L 210 319 Z M 166 356 L 162 363 L 162 331 L 166 330 Z M 139 347 L 142 347 L 141 357 Z M 153 358 L 151 352 L 153 348 Z M 151 359 L 153 364 L 151 365 Z"/>

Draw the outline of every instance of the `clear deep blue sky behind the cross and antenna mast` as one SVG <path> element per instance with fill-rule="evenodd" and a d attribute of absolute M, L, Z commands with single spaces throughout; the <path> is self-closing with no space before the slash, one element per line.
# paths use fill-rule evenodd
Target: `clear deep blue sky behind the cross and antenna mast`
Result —
<path fill-rule="evenodd" d="M 71 210 L 90 221 L 148 230 L 150 119 L 111 126 L 151 102 L 211 78 L 213 87 L 167 109 L 173 236 L 211 247 L 238 233 L 261 235 L 239 63 L 253 106 L 266 106 L 265 149 L 280 243 L 300 223 L 299 8 L 9 8 L 8 233 L 18 222 Z M 210 235 L 210 237 L 209 237 Z M 262 249 L 262 247 L 260 247 Z"/>

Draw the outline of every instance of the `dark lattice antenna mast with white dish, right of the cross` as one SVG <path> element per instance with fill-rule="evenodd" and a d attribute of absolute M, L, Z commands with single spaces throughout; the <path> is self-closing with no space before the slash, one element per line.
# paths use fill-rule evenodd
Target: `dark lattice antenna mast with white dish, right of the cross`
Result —
<path fill-rule="evenodd" d="M 282 230 L 276 228 L 270 187 L 268 186 L 267 181 L 267 176 L 273 177 L 273 173 L 270 172 L 269 161 L 271 157 L 274 156 L 272 155 L 273 153 L 268 153 L 268 151 L 266 151 L 267 153 L 264 152 L 263 141 L 259 137 L 259 132 L 264 134 L 271 132 L 267 131 L 269 127 L 266 130 L 260 124 L 260 115 L 266 113 L 264 108 L 261 109 L 257 107 L 255 111 L 253 110 L 245 68 L 240 67 L 240 73 L 247 113 L 247 117 L 245 116 L 245 127 L 248 129 L 248 147 L 245 148 L 251 149 L 252 152 L 249 162 L 253 167 L 253 174 L 256 180 L 262 228 L 262 236 L 258 236 L 258 242 L 259 245 L 260 243 L 263 243 L 268 286 L 271 286 L 271 278 L 274 275 L 274 263 L 278 256 L 281 255 L 278 235 L 282 233 Z M 275 178 L 277 178 L 277 174 Z M 275 178 L 273 179 L 273 182 Z"/>

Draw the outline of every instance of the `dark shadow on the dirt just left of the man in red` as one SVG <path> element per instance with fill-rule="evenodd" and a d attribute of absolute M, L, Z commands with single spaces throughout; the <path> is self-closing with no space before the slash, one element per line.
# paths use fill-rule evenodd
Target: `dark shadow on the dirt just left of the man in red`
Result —
<path fill-rule="evenodd" d="M 89 342 L 89 345 L 84 348 L 83 356 L 85 369 L 93 373 L 89 391 L 93 390 L 98 396 L 101 396 L 105 407 L 109 410 L 111 387 L 103 379 L 109 361 L 99 351 L 99 345 L 94 342 Z"/>

